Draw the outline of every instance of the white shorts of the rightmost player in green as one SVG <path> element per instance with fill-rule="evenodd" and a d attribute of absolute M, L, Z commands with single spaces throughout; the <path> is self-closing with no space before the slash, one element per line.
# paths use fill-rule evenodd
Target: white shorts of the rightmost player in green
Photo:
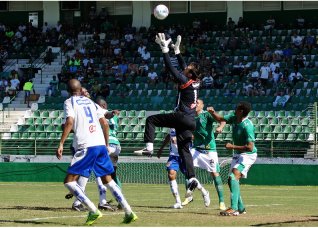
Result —
<path fill-rule="evenodd" d="M 235 154 L 231 162 L 230 172 L 232 172 L 233 168 L 239 169 L 240 166 L 241 167 L 244 166 L 243 170 L 241 170 L 241 174 L 242 174 L 242 178 L 247 178 L 247 172 L 251 168 L 251 166 L 255 163 L 256 158 L 257 158 L 257 153 Z"/>

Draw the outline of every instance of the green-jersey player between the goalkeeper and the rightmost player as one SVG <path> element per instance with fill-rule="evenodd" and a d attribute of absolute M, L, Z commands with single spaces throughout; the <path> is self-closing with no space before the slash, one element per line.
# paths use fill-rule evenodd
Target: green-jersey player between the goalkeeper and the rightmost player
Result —
<path fill-rule="evenodd" d="M 220 165 L 213 131 L 213 123 L 217 121 L 213 119 L 209 112 L 204 111 L 203 108 L 203 100 L 198 99 L 195 117 L 196 129 L 193 133 L 193 147 L 190 152 L 193 157 L 193 165 L 205 169 L 211 174 L 219 197 L 219 208 L 225 210 L 223 183 L 219 174 Z M 224 121 L 220 122 L 220 126 L 216 128 L 216 133 L 221 133 L 224 125 Z M 186 198 L 182 204 L 184 206 L 191 201 L 192 196 Z"/>

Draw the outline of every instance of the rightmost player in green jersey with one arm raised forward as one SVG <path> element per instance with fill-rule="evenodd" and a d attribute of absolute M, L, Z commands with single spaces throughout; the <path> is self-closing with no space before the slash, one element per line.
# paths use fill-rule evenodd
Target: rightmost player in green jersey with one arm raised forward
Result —
<path fill-rule="evenodd" d="M 254 125 L 247 118 L 251 111 L 251 104 L 241 101 L 235 113 L 226 116 L 220 116 L 215 112 L 213 107 L 208 108 L 208 112 L 217 121 L 225 121 L 232 125 L 233 144 L 227 143 L 225 148 L 233 150 L 234 155 L 231 163 L 231 173 L 229 175 L 228 184 L 231 191 L 231 207 L 220 212 L 224 216 L 237 216 L 245 214 L 245 206 L 240 194 L 239 180 L 247 177 L 247 172 L 255 163 L 257 158 L 257 149 L 255 147 Z"/>

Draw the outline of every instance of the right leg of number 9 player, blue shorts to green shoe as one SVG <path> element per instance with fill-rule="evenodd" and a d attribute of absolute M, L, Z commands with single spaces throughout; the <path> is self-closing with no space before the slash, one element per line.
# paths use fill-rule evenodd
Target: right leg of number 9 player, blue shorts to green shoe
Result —
<path fill-rule="evenodd" d="M 106 185 L 106 187 L 111 191 L 112 195 L 115 197 L 117 202 L 119 202 L 125 211 L 124 223 L 130 223 L 138 219 L 135 213 L 131 210 L 130 205 L 125 199 L 121 189 L 116 184 L 116 182 L 112 179 L 111 173 L 114 172 L 113 164 L 109 158 L 106 146 L 99 146 L 100 156 L 96 159 L 94 164 L 94 170 L 96 176 L 100 176 L 102 182 Z"/>

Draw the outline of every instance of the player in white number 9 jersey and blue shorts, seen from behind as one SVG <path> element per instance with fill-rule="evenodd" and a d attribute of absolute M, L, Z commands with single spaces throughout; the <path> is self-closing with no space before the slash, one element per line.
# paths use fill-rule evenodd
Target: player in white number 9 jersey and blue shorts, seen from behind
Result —
<path fill-rule="evenodd" d="M 114 168 L 106 147 L 109 146 L 109 128 L 104 114 L 99 112 L 97 105 L 92 100 L 82 96 L 81 83 L 78 80 L 71 79 L 68 90 L 71 97 L 64 102 L 66 122 L 56 151 L 56 157 L 62 159 L 65 140 L 73 130 L 75 154 L 64 179 L 65 187 L 88 208 L 89 214 L 85 224 L 93 224 L 102 217 L 102 213 L 85 195 L 83 189 L 77 184 L 77 180 L 79 176 L 88 177 L 90 172 L 94 171 L 96 177 L 101 177 L 103 183 L 121 203 L 125 211 L 123 223 L 135 221 L 138 217 L 131 210 L 120 188 L 110 175 L 114 172 Z"/>

